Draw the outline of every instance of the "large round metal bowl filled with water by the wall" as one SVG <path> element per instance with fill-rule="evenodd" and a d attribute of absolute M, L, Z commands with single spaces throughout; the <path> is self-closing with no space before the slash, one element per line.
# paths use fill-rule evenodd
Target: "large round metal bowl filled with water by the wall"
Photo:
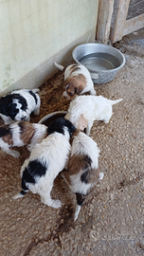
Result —
<path fill-rule="evenodd" d="M 76 63 L 83 64 L 95 83 L 112 81 L 117 71 L 125 64 L 124 55 L 112 46 L 82 44 L 72 52 Z"/>

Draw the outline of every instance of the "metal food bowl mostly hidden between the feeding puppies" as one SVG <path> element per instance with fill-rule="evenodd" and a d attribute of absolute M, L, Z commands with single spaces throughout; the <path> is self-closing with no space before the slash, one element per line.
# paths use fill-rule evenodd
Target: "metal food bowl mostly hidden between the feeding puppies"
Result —
<path fill-rule="evenodd" d="M 66 114 L 67 114 L 67 111 L 53 112 L 53 113 L 50 113 L 50 114 L 46 115 L 43 119 L 39 120 L 38 123 L 45 124 L 48 127 L 50 122 L 52 122 L 55 119 L 64 118 Z M 87 128 L 84 129 L 84 133 L 87 136 L 89 135 Z"/>

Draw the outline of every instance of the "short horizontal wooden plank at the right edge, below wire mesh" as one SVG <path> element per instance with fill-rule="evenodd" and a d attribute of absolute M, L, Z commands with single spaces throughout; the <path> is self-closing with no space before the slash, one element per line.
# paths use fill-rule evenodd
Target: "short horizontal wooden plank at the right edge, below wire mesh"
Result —
<path fill-rule="evenodd" d="M 126 20 L 123 35 L 128 35 L 144 27 L 144 13 L 130 20 Z"/>

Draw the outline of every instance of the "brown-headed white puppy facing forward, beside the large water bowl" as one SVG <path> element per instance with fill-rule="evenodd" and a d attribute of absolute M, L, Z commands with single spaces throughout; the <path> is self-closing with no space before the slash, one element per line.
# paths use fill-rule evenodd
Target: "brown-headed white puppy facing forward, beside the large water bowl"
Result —
<path fill-rule="evenodd" d="M 84 65 L 70 64 L 66 68 L 61 64 L 55 63 L 55 65 L 64 71 L 63 97 L 68 101 L 86 92 L 96 95 L 94 82 L 91 79 L 88 69 Z"/>

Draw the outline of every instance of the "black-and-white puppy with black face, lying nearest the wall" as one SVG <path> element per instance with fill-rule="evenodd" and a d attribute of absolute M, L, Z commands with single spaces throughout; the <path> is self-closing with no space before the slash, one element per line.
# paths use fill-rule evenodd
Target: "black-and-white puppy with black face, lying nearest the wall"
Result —
<path fill-rule="evenodd" d="M 31 112 L 39 115 L 41 100 L 36 93 L 39 89 L 15 90 L 0 98 L 0 117 L 5 124 L 14 120 L 29 120 Z"/>

